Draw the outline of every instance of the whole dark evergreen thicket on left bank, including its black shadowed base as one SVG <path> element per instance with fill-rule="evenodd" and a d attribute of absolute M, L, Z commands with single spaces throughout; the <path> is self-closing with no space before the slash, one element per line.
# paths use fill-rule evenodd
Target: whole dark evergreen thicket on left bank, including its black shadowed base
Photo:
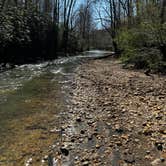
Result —
<path fill-rule="evenodd" d="M 50 39 L 56 39 L 58 29 L 53 28 L 52 18 L 33 6 L 30 9 L 10 6 L 0 12 L 0 62 L 24 63 L 39 57 L 49 58 L 52 55 L 47 50 L 48 41 L 54 45 L 50 49 L 56 49 L 57 45 L 56 40 Z"/>

